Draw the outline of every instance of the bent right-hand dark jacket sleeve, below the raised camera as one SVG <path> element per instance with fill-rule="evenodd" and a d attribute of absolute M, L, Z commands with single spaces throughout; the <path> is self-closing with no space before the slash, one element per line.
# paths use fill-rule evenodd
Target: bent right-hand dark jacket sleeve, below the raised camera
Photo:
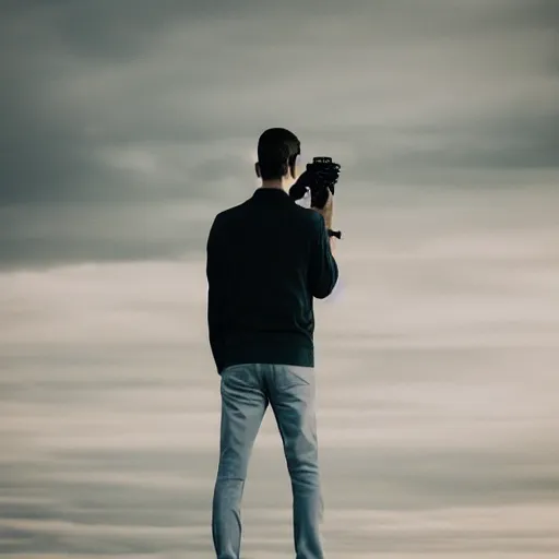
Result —
<path fill-rule="evenodd" d="M 324 217 L 317 212 L 314 214 L 317 217 L 310 249 L 309 283 L 312 296 L 324 299 L 334 290 L 338 269 L 330 248 Z"/>

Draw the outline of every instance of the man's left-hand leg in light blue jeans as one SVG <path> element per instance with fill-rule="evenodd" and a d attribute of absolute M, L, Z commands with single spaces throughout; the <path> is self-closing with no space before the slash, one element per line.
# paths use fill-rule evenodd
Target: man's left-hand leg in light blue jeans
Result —
<path fill-rule="evenodd" d="M 222 372 L 219 466 L 212 503 L 217 559 L 239 559 L 242 490 L 250 454 L 267 407 L 260 365 L 237 365 Z"/>

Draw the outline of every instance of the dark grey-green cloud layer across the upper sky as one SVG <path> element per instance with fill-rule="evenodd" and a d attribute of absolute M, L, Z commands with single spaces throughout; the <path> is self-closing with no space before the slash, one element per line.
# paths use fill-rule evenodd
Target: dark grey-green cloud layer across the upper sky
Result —
<path fill-rule="evenodd" d="M 309 158 L 332 150 L 353 188 L 371 176 L 381 186 L 468 186 L 508 182 L 512 170 L 518 181 L 526 169 L 546 180 L 557 173 L 552 2 L 356 1 L 343 13 L 337 2 L 231 5 L 11 3 L 0 93 L 0 203 L 12 206 L 4 263 L 175 254 L 178 233 L 147 250 L 143 239 L 119 239 L 122 219 L 134 219 L 127 204 L 164 223 L 177 201 L 217 211 L 248 195 L 253 144 L 273 124 L 296 130 Z M 37 212 L 58 222 L 53 204 L 74 223 L 88 212 L 99 229 L 45 230 L 34 249 L 25 229 Z M 129 225 L 143 227 L 138 217 Z M 192 223 L 188 237 L 207 225 Z M 202 248 L 200 236 L 193 250 Z"/>

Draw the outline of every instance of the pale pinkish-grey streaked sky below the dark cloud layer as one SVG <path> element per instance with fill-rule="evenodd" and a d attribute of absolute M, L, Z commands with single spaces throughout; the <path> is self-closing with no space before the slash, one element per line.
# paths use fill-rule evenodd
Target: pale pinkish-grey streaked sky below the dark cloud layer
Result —
<path fill-rule="evenodd" d="M 348 289 L 317 305 L 332 554 L 559 549 L 557 194 L 515 192 L 495 212 L 457 193 L 354 209 L 379 235 L 353 230 Z M 201 258 L 0 274 L 4 552 L 211 557 L 219 393 L 204 287 Z M 288 484 L 269 414 L 248 556 L 288 555 Z"/>

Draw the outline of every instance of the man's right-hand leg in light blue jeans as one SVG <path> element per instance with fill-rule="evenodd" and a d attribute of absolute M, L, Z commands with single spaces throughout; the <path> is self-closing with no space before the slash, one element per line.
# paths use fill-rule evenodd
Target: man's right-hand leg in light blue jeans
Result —
<path fill-rule="evenodd" d="M 322 559 L 319 524 L 323 515 L 320 487 L 314 369 L 271 366 L 270 403 L 284 443 L 293 489 L 293 523 L 297 559 Z"/>

